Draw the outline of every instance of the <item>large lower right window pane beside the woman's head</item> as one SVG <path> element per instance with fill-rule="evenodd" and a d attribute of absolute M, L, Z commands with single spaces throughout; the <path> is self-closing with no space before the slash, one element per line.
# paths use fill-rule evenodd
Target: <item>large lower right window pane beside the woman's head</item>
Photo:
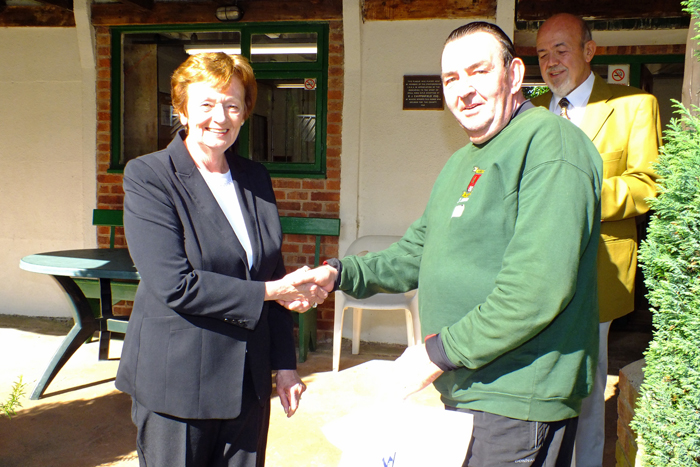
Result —
<path fill-rule="evenodd" d="M 316 80 L 259 79 L 250 141 L 256 161 L 315 162 Z"/>

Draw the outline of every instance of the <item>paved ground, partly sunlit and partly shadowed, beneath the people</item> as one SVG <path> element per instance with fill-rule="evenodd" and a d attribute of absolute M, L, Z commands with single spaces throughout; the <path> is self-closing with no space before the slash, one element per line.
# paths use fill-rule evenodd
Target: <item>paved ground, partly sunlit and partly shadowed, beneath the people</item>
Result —
<path fill-rule="evenodd" d="M 0 315 L 0 401 L 21 375 L 27 394 L 51 355 L 68 332 L 69 324 L 56 320 Z M 606 460 L 615 459 L 617 374 L 619 368 L 641 358 L 648 334 L 611 333 L 608 377 Z M 23 398 L 12 420 L 0 416 L 0 466 L 96 467 L 138 465 L 134 452 L 135 429 L 130 420 L 131 401 L 114 388 L 120 343 L 111 349 L 112 360 L 97 360 L 97 343 L 83 345 L 69 360 L 39 401 Z M 341 369 L 368 360 L 394 359 L 401 346 L 363 345 L 359 356 L 344 349 Z M 309 390 L 299 412 L 286 419 L 278 401 L 272 402 L 268 467 L 332 467 L 340 451 L 328 442 L 321 427 L 347 413 L 362 389 L 350 379 L 337 378 L 331 369 L 330 345 L 323 345 L 300 365 Z M 357 397 L 354 397 L 357 395 Z M 28 397 L 28 396 L 27 396 Z M 434 392 L 420 396 L 427 405 L 439 404 Z"/>

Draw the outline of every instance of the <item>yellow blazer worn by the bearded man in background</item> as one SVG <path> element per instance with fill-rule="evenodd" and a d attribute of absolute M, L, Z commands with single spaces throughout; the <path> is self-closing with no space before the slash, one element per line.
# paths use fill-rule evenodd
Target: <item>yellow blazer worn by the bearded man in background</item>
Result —
<path fill-rule="evenodd" d="M 548 92 L 532 103 L 549 108 L 551 98 Z M 595 75 L 581 129 L 603 159 L 598 300 L 600 321 L 606 322 L 634 310 L 635 216 L 649 210 L 646 198 L 656 196 L 652 164 L 661 145 L 659 103 L 640 89 Z"/>

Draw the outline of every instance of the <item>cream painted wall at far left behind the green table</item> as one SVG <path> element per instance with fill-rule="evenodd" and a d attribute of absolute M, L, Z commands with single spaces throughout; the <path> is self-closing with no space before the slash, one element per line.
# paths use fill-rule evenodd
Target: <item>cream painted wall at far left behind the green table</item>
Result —
<path fill-rule="evenodd" d="M 0 28 L 0 43 L 11 44 L 0 48 L 0 314 L 69 316 L 53 279 L 19 260 L 95 245 L 94 78 L 86 94 L 75 28 Z"/>

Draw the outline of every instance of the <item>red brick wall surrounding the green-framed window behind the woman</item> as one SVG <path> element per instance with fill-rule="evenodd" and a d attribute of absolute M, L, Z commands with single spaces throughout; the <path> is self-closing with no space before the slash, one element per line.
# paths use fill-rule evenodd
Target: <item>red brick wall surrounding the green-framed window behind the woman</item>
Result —
<path fill-rule="evenodd" d="M 280 215 L 337 218 L 340 212 L 340 152 L 343 108 L 343 24 L 330 22 L 326 178 L 273 178 Z M 124 191 L 122 174 L 109 173 L 111 141 L 111 35 L 109 28 L 97 27 L 97 208 L 122 209 Z M 109 227 L 97 229 L 100 247 L 109 246 Z M 117 228 L 115 245 L 125 247 L 123 228 Z M 313 265 L 315 237 L 287 235 L 283 254 L 289 271 L 303 265 Z M 321 261 L 338 256 L 338 238 L 321 239 Z M 115 313 L 129 314 L 130 303 L 115 306 Z M 333 338 L 333 300 L 319 306 L 318 338 L 330 342 Z"/>

